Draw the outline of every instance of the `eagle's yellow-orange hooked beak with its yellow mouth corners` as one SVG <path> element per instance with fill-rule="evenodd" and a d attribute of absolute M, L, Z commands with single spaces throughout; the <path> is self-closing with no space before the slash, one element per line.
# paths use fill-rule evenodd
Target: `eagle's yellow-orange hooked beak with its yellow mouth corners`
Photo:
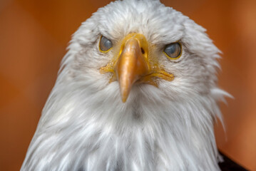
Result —
<path fill-rule="evenodd" d="M 121 43 L 116 58 L 101 68 L 101 73 L 113 73 L 111 81 L 118 80 L 123 103 L 126 102 L 134 83 L 149 83 L 157 86 L 152 78 L 163 78 L 173 81 L 173 74 L 167 73 L 158 63 L 148 59 L 148 42 L 143 34 L 130 33 Z"/>

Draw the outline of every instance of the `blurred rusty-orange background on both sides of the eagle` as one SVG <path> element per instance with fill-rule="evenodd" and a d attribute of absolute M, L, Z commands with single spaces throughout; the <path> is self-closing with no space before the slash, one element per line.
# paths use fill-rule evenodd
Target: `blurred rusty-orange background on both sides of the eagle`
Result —
<path fill-rule="evenodd" d="M 208 29 L 223 52 L 220 87 L 226 155 L 256 170 L 256 1 L 161 0 Z M 66 46 L 82 21 L 110 0 L 0 0 L 0 170 L 19 170 Z"/>

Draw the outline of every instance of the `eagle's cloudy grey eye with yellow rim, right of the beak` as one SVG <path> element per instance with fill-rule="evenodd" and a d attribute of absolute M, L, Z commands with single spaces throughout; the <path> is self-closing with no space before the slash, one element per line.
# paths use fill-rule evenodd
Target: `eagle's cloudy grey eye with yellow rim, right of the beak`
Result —
<path fill-rule="evenodd" d="M 163 53 L 170 59 L 178 59 L 181 56 L 181 44 L 179 42 L 170 43 L 165 46 Z"/>

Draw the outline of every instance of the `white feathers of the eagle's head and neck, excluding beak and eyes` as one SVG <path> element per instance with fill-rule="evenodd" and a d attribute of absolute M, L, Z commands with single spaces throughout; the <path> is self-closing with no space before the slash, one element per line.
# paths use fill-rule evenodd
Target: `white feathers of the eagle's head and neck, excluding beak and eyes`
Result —
<path fill-rule="evenodd" d="M 118 81 L 101 73 L 129 33 L 143 34 L 173 81 L 135 83 L 123 103 Z M 113 42 L 99 51 L 101 35 Z M 177 60 L 168 43 L 182 43 Z M 220 51 L 198 26 L 160 1 L 114 1 L 73 35 L 21 170 L 220 170 L 213 124 Z"/>

